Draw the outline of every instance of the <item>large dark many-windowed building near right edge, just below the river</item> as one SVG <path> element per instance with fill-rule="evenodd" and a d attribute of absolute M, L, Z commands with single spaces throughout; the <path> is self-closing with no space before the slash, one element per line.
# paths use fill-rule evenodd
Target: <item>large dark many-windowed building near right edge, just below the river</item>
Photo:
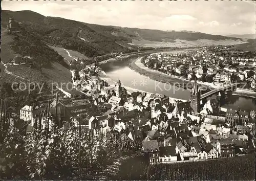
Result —
<path fill-rule="evenodd" d="M 243 125 L 244 123 L 248 122 L 248 120 L 248 112 L 242 110 L 237 111 L 233 109 L 227 109 L 226 122 L 229 123 L 231 126 Z"/>

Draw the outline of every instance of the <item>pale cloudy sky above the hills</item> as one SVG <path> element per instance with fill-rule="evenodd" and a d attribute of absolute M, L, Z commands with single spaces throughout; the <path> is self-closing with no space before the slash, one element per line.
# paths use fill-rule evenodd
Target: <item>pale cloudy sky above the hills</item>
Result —
<path fill-rule="evenodd" d="M 31 10 L 90 24 L 209 34 L 255 34 L 253 1 L 7 1 L 2 9 Z"/>

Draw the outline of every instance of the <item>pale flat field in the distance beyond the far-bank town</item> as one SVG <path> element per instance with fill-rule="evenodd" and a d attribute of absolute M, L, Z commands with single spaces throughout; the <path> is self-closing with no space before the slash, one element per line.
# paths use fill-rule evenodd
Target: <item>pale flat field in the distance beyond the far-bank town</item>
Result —
<path fill-rule="evenodd" d="M 176 39 L 175 41 L 167 40 L 166 42 L 160 41 L 149 41 L 144 39 L 133 39 L 132 45 L 139 46 L 139 47 L 197 47 L 197 46 L 210 46 L 210 45 L 231 45 L 231 44 L 241 44 L 244 43 L 241 40 L 209 40 L 209 39 L 199 39 L 193 41 L 187 41 L 182 39 Z"/>

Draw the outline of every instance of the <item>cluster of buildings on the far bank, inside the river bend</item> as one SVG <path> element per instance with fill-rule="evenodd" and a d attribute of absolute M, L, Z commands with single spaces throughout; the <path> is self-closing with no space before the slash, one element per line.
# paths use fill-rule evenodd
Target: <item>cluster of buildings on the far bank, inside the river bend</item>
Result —
<path fill-rule="evenodd" d="M 200 80 L 223 85 L 230 82 L 249 82 L 255 88 L 255 53 L 228 51 L 225 47 L 203 48 L 195 52 L 159 53 L 143 59 L 144 65 L 168 75 L 194 80 L 193 74 Z"/>

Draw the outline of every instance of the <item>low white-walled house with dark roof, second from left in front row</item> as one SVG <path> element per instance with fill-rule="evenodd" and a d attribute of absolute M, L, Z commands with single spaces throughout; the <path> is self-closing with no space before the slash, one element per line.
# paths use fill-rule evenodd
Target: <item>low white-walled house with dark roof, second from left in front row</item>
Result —
<path fill-rule="evenodd" d="M 177 162 L 176 146 L 166 146 L 159 148 L 159 160 L 160 163 Z"/>

